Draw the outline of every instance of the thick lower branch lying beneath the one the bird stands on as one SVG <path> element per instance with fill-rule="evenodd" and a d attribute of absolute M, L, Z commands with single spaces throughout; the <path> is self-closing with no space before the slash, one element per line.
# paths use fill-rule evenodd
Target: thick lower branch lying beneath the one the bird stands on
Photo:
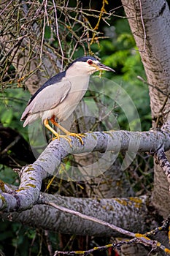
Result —
<path fill-rule="evenodd" d="M 147 199 L 146 196 L 91 199 L 43 193 L 37 201 L 38 204 L 30 210 L 12 213 L 1 212 L 1 217 L 13 222 L 24 222 L 25 225 L 31 227 L 42 227 L 60 233 L 89 236 L 133 236 L 134 233 L 145 233 L 147 230 L 148 223 L 145 222 L 146 219 L 149 219 Z M 48 204 L 48 202 L 49 206 L 42 204 Z M 74 214 L 75 212 L 76 214 Z M 95 219 L 96 223 L 93 222 Z M 130 230 L 133 232 L 131 233 Z"/>

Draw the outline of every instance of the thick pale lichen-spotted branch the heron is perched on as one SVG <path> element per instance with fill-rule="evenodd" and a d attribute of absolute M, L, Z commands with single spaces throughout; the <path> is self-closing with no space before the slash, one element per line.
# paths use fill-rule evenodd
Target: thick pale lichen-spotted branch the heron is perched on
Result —
<path fill-rule="evenodd" d="M 31 208 L 39 198 L 42 179 L 49 173 L 55 174 L 56 168 L 68 154 L 80 154 L 92 151 L 131 151 L 154 153 L 161 146 L 164 150 L 170 148 L 168 130 L 160 132 L 89 132 L 85 134 L 84 145 L 72 138 L 72 148 L 66 140 L 53 140 L 45 151 L 32 165 L 23 167 L 20 173 L 20 187 L 17 191 L 7 194 L 3 189 L 0 198 L 0 208 L 4 211 L 23 211 Z"/>

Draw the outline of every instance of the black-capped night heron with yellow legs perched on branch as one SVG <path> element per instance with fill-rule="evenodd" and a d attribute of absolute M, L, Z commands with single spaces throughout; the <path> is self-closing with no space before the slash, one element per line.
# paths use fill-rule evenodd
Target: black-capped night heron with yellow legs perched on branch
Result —
<path fill-rule="evenodd" d="M 42 118 L 45 127 L 53 132 L 58 140 L 63 137 L 70 143 L 71 138 L 67 137 L 69 135 L 79 138 L 83 144 L 83 135 L 67 131 L 58 121 L 66 120 L 72 114 L 88 89 L 90 75 L 98 70 L 115 71 L 92 56 L 84 56 L 73 61 L 66 71 L 47 80 L 29 100 L 20 119 L 25 120 L 23 127 L 37 118 Z M 66 135 L 59 135 L 50 127 L 49 120 Z"/>

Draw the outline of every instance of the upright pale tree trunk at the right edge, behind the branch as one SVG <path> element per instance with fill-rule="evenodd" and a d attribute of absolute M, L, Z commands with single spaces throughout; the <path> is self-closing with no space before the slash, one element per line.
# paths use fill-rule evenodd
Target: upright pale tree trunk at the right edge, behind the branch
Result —
<path fill-rule="evenodd" d="M 166 1 L 122 0 L 131 31 L 144 64 L 150 89 L 152 126 L 169 122 L 170 12 Z M 166 114 L 167 113 L 167 114 Z M 169 157 L 169 154 L 166 154 Z M 163 217 L 169 215 L 170 198 L 166 177 L 155 164 L 152 203 Z"/>

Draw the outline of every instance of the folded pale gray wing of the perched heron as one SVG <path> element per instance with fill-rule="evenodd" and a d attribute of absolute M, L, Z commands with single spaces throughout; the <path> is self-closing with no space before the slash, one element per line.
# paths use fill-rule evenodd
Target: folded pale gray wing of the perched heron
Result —
<path fill-rule="evenodd" d="M 21 120 L 26 119 L 29 114 L 39 113 L 45 110 L 50 110 L 59 105 L 71 89 L 71 83 L 69 80 L 63 80 L 53 85 L 45 87 L 39 94 L 31 101 L 26 107 L 21 116 Z"/>

